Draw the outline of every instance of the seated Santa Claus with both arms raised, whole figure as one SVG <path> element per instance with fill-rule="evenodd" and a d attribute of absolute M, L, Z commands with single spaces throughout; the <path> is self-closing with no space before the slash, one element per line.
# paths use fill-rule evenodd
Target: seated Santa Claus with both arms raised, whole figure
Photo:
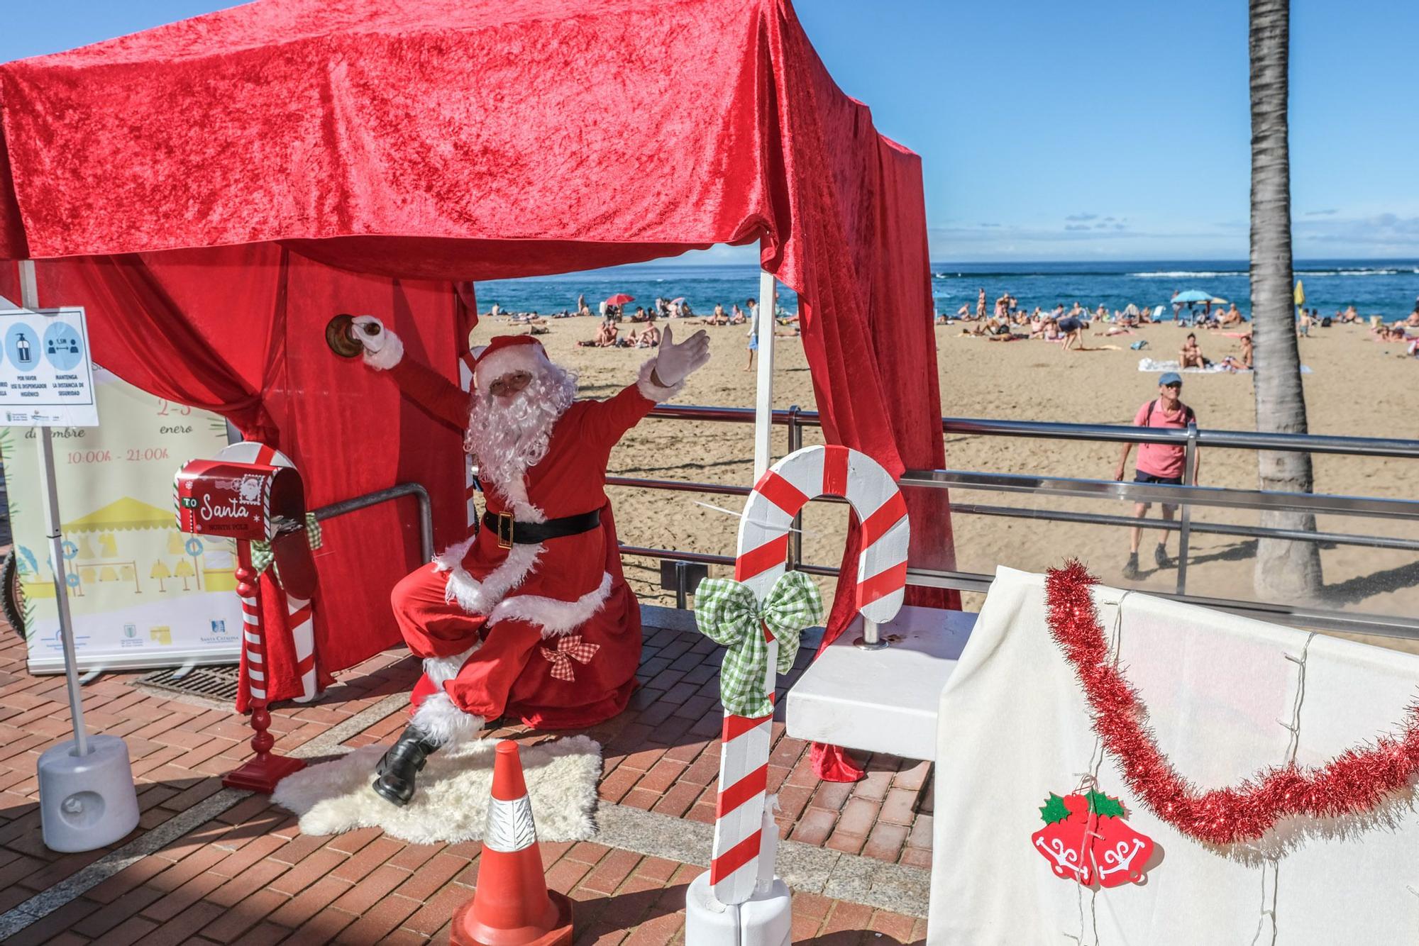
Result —
<path fill-rule="evenodd" d="M 576 376 L 529 335 L 477 355 L 471 396 L 406 359 L 373 316 L 353 319 L 365 363 L 436 417 L 467 428 L 487 512 L 474 538 L 400 581 L 394 618 L 424 674 L 413 718 L 385 753 L 375 791 L 403 806 L 441 746 L 485 720 L 590 726 L 626 708 L 640 662 L 640 607 L 622 576 L 606 499 L 612 447 L 710 359 L 701 330 L 667 328 L 640 377 L 604 401 L 576 400 Z M 470 406 L 471 400 L 471 406 Z"/>

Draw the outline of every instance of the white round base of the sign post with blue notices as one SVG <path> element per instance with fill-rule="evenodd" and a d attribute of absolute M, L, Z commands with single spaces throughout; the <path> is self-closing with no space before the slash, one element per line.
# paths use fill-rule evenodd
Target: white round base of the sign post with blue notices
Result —
<path fill-rule="evenodd" d="M 51 851 L 92 851 L 138 827 L 138 790 L 128 745 L 89 736 L 89 753 L 61 742 L 40 756 L 40 824 Z"/>

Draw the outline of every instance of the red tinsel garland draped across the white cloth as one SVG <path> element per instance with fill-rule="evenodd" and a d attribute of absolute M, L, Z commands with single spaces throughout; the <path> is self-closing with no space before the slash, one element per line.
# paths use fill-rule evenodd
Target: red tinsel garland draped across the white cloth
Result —
<path fill-rule="evenodd" d="M 1118 760 L 1118 770 L 1148 808 L 1206 844 L 1257 841 L 1277 821 L 1296 816 L 1334 818 L 1372 811 L 1408 787 L 1419 772 L 1419 705 L 1409 708 L 1403 733 L 1372 747 L 1348 749 L 1318 769 L 1294 763 L 1266 769 L 1242 784 L 1199 791 L 1174 770 L 1148 729 L 1138 692 L 1114 667 L 1090 589 L 1097 579 L 1078 562 L 1046 579 L 1050 633 L 1078 674 L 1094 732 Z"/>

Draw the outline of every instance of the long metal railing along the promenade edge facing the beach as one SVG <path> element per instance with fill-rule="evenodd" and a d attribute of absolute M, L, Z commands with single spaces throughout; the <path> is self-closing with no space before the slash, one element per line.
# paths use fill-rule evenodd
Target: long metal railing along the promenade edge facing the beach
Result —
<path fill-rule="evenodd" d="M 661 406 L 651 417 L 666 420 L 697 420 L 714 423 L 752 424 L 753 410 L 746 407 L 694 407 Z M 820 427 L 816 411 L 799 407 L 773 411 L 773 424 L 788 428 L 788 448 L 792 452 L 802 447 L 803 428 Z M 1263 489 L 1230 489 L 1222 486 L 1198 486 L 1192 482 L 1196 451 L 1202 447 L 1227 450 L 1273 450 L 1313 454 L 1345 454 L 1354 457 L 1398 457 L 1419 460 L 1419 441 L 1384 440 L 1369 437 L 1331 437 L 1311 434 L 1269 434 L 1256 431 L 1199 430 L 1198 427 L 1156 428 L 1111 424 L 1056 424 L 1040 421 L 975 420 L 944 417 L 942 433 L 961 435 L 1034 437 L 1047 440 L 1078 440 L 1104 443 L 1152 443 L 1174 444 L 1185 450 L 1183 485 L 1121 482 L 1112 479 L 1083 479 L 1066 477 L 1037 477 L 1020 474 L 986 474 L 959 469 L 910 469 L 900 478 L 908 488 L 928 489 L 983 489 L 993 492 L 1015 492 L 1044 496 L 1067 496 L 1078 499 L 1114 499 L 1134 502 L 1159 502 L 1181 508 L 1176 521 L 1141 519 L 1124 515 L 1086 513 L 1060 509 L 1034 509 L 1029 506 L 985 505 L 952 502 L 952 513 L 1023 518 L 1047 522 L 1069 522 L 1100 526 L 1138 526 L 1166 529 L 1179 535 L 1178 583 L 1172 593 L 1164 593 L 1179 601 L 1216 607 L 1266 620 L 1283 620 L 1325 630 L 1352 631 L 1358 634 L 1381 634 L 1389 637 L 1419 638 L 1419 620 L 1399 616 L 1372 616 L 1352 611 L 1313 608 L 1300 604 L 1270 601 L 1249 601 L 1188 594 L 1188 542 L 1192 533 L 1225 535 L 1246 539 L 1284 539 L 1320 542 L 1325 545 L 1352 545 L 1374 549 L 1419 550 L 1419 540 L 1388 536 L 1358 535 L 1348 532 L 1321 532 L 1303 529 L 1281 529 L 1250 525 L 1227 525 L 1216 522 L 1193 522 L 1192 506 L 1219 509 L 1250 509 L 1259 512 L 1303 512 L 1310 515 L 1379 516 L 1386 519 L 1419 521 L 1419 502 L 1408 499 L 1379 499 L 1372 496 L 1342 496 L 1328 494 L 1293 494 Z M 678 479 L 640 479 L 633 477 L 607 477 L 616 486 L 639 486 L 684 492 L 745 496 L 748 486 L 724 484 L 687 482 Z M 846 502 L 833 496 L 820 496 L 827 502 Z M 800 526 L 800 518 L 795 519 Z M 802 533 L 790 533 L 789 566 L 809 574 L 836 576 L 832 566 L 806 564 L 802 562 Z M 653 549 L 643 546 L 622 546 L 626 555 L 660 557 L 707 564 L 734 564 L 732 556 L 680 552 L 674 549 Z M 944 572 L 911 567 L 907 572 L 908 584 L 924 587 L 955 589 L 962 591 L 985 591 L 990 586 L 989 574 L 975 572 Z"/>

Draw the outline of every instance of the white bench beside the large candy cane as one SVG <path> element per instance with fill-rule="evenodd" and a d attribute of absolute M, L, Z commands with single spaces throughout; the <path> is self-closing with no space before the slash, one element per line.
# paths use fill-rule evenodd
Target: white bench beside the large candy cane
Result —
<path fill-rule="evenodd" d="M 785 723 L 795 739 L 904 759 L 937 757 L 941 688 L 956 667 L 976 614 L 902 606 L 881 640 L 890 647 L 853 647 L 858 616 L 789 689 Z"/>

